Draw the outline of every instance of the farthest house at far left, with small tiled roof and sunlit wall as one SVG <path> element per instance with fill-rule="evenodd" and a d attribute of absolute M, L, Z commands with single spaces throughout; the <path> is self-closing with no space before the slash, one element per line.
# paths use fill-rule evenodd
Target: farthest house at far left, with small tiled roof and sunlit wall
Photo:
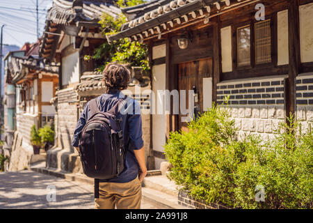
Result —
<path fill-rule="evenodd" d="M 10 151 L 10 171 L 28 166 L 33 155 L 31 127 L 53 124 L 56 113 L 50 100 L 58 86 L 58 70 L 44 65 L 38 56 L 39 46 L 40 40 L 26 44 L 22 51 L 9 53 L 5 58 L 5 144 Z"/>

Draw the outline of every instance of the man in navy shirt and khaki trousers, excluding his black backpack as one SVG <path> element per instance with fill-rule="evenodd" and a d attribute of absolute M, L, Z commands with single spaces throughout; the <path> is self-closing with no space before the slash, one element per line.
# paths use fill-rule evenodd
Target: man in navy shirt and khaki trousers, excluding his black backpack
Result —
<path fill-rule="evenodd" d="M 107 112 L 120 98 L 125 97 L 121 91 L 127 89 L 131 72 L 122 64 L 110 63 L 104 69 L 103 75 L 106 93 L 100 95 L 96 101 L 99 110 Z M 95 208 L 97 209 L 114 209 L 115 206 L 118 209 L 141 208 L 141 183 L 147 174 L 147 167 L 145 166 L 140 105 L 136 100 L 130 98 L 127 98 L 127 105 L 131 105 L 130 108 L 133 111 L 127 112 L 127 114 L 120 112 L 126 151 L 125 169 L 117 178 L 99 180 L 99 198 L 95 198 Z M 127 108 L 129 109 L 129 106 Z M 89 117 L 88 102 L 74 131 L 72 146 L 75 148 L 79 146 L 80 133 Z"/>

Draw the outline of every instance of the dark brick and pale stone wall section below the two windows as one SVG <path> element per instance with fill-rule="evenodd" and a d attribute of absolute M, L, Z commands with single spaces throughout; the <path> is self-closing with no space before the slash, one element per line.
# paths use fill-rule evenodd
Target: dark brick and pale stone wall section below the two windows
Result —
<path fill-rule="evenodd" d="M 229 108 L 239 139 L 257 134 L 267 140 L 284 122 L 285 76 L 238 79 L 217 84 L 218 104 L 230 95 Z"/>

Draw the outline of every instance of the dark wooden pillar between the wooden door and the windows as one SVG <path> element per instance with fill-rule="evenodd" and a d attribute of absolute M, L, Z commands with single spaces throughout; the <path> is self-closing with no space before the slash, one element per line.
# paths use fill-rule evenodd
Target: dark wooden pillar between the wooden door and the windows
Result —
<path fill-rule="evenodd" d="M 213 24 L 213 95 L 212 100 L 216 102 L 216 84 L 220 82 L 221 52 L 220 52 L 220 20 L 219 16 L 214 18 Z"/>

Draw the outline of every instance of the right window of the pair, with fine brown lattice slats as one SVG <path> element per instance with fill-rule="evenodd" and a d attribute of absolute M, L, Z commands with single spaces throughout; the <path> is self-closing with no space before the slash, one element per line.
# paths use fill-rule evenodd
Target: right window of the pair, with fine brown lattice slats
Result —
<path fill-rule="evenodd" d="M 255 64 L 271 63 L 271 20 L 255 23 Z"/>

